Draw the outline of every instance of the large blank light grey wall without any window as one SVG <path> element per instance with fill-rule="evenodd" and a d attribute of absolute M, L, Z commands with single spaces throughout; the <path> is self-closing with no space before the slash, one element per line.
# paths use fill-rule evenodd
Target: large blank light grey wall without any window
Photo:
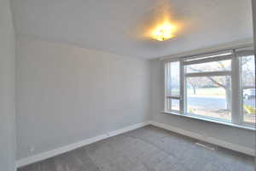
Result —
<path fill-rule="evenodd" d="M 148 120 L 148 60 L 17 39 L 17 159 Z"/>

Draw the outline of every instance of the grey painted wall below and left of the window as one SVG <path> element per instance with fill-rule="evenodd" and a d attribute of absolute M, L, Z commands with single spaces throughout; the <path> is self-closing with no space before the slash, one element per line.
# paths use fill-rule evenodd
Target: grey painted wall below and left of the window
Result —
<path fill-rule="evenodd" d="M 224 140 L 235 145 L 255 149 L 255 132 L 251 130 L 161 113 L 160 111 L 164 110 L 164 66 L 160 60 L 151 60 L 150 66 L 150 104 L 151 117 L 154 122 L 201 134 L 206 138 Z"/>

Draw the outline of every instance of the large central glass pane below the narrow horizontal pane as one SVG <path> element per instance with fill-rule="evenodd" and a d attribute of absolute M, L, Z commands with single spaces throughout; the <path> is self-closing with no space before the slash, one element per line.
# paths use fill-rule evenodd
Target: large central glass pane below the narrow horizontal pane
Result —
<path fill-rule="evenodd" d="M 231 121 L 230 76 L 187 77 L 186 112 Z"/>

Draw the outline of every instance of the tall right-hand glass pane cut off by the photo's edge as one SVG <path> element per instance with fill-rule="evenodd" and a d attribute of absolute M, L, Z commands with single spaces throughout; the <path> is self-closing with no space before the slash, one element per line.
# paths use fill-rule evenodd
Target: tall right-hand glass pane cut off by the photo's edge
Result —
<path fill-rule="evenodd" d="M 255 123 L 255 63 L 253 55 L 241 57 L 241 90 L 244 121 Z"/>

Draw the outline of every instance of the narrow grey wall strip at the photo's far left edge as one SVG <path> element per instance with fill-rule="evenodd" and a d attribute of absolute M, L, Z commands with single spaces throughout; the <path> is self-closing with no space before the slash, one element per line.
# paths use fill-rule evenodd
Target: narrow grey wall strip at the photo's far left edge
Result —
<path fill-rule="evenodd" d="M 15 32 L 9 0 L 0 1 L 0 171 L 15 170 Z"/>

